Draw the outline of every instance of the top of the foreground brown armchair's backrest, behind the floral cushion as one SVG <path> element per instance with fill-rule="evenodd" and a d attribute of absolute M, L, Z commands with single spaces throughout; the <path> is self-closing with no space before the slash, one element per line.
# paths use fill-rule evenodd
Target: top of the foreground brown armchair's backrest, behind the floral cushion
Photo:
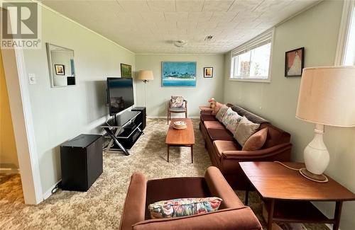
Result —
<path fill-rule="evenodd" d="M 160 229 L 262 229 L 255 214 L 250 207 L 221 209 L 217 212 L 208 212 L 188 217 L 173 217 L 163 219 L 149 219 L 133 225 L 135 230 Z"/>

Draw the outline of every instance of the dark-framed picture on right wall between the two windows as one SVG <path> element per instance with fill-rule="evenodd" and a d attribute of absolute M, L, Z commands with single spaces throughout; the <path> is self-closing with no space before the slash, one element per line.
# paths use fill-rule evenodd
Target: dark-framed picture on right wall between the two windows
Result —
<path fill-rule="evenodd" d="M 305 65 L 305 47 L 285 53 L 285 76 L 302 76 Z"/>

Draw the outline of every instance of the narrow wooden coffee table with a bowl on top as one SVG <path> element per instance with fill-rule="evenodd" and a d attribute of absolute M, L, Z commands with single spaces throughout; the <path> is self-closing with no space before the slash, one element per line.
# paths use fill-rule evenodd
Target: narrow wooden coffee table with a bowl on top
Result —
<path fill-rule="evenodd" d="M 181 120 L 186 122 L 187 128 L 184 130 L 176 130 L 173 127 L 174 122 Z M 168 162 L 170 146 L 187 146 L 191 148 L 191 163 L 194 163 L 193 149 L 195 144 L 194 127 L 192 120 L 189 118 L 174 118 L 169 125 L 168 134 L 166 134 L 165 143 L 168 146 Z"/>

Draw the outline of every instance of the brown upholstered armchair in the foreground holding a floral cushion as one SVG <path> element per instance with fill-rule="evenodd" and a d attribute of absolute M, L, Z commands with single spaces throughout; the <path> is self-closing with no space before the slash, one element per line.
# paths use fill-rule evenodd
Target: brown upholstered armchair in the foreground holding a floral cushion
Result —
<path fill-rule="evenodd" d="M 189 217 L 150 219 L 148 205 L 160 200 L 186 197 L 220 197 L 217 212 Z M 262 229 L 255 214 L 236 196 L 221 172 L 209 167 L 204 178 L 165 178 L 146 180 L 134 173 L 121 216 L 121 230 L 126 229 Z"/>

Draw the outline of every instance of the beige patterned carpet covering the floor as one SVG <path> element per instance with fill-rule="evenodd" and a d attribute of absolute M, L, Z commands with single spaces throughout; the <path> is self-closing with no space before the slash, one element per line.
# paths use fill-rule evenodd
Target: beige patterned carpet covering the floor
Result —
<path fill-rule="evenodd" d="M 148 179 L 203 176 L 211 166 L 193 120 L 196 144 L 194 163 L 190 148 L 171 147 L 166 161 L 166 120 L 148 120 L 145 134 L 133 146 L 131 156 L 104 154 L 104 173 L 87 192 L 59 190 L 40 205 L 24 205 L 19 175 L 0 176 L 0 229 L 118 229 L 130 176 L 141 171 Z M 244 192 L 237 192 L 244 199 Z M 251 192 L 249 202 L 261 223 L 261 200 Z M 266 228 L 265 228 L 266 229 Z M 307 229 L 327 229 L 307 225 Z"/>

